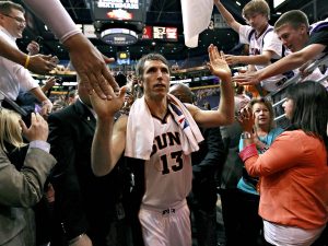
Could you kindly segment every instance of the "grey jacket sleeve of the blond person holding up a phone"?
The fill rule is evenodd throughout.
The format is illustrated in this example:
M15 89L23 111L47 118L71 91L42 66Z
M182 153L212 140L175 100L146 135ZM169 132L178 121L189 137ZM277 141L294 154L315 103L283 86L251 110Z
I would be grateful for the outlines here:
M43 150L27 151L19 172L0 149L0 204L28 208L38 202L43 188L56 160Z

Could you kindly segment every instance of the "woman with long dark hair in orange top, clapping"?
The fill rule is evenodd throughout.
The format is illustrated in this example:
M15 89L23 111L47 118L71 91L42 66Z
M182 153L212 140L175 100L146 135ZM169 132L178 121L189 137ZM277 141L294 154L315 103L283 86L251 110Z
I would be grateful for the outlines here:
M271 245L312 245L328 220L328 92L307 81L289 87L283 104L291 126L265 153L258 154L251 109L241 116L244 149L239 153L250 176L260 177L259 215Z

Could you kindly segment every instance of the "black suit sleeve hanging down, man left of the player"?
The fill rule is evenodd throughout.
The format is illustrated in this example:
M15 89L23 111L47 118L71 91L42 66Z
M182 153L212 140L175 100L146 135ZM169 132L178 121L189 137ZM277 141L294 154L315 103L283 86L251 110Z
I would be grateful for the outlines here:
M56 209L60 223L68 239L85 233L87 230L86 215L83 209L83 198L75 168L75 145L73 144L72 129L67 118L50 115L49 143L51 154L58 164L51 175L51 184L56 190Z

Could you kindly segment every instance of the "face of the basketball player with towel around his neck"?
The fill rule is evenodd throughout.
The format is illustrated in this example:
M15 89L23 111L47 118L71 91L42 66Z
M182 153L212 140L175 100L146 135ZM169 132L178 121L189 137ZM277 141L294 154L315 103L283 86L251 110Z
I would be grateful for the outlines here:
M143 67L141 86L144 95L153 99L163 98L169 89L169 69L161 60L147 60Z

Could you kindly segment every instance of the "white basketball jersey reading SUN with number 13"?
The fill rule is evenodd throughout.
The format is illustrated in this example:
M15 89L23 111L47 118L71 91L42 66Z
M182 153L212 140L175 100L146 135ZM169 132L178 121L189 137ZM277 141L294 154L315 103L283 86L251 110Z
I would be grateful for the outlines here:
M142 204L165 210L184 201L191 190L191 156L181 150L185 137L171 114L166 122L153 117L154 141L152 154L145 161L145 194Z

